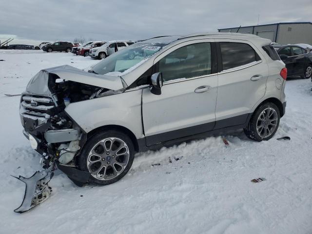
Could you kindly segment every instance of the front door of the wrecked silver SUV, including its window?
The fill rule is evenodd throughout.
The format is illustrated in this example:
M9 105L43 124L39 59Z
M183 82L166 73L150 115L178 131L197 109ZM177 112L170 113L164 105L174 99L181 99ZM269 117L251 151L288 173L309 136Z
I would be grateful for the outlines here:
M176 45L155 59L164 83L161 95L142 92L148 146L214 128L218 78L212 74L213 40L196 41Z

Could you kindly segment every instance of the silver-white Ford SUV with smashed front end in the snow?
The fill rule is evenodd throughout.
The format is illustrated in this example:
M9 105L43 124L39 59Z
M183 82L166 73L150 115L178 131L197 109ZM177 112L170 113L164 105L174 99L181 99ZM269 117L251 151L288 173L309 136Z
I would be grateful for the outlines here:
M209 132L268 140L285 114L287 69L271 40L204 33L137 42L88 72L40 71L21 96L31 146L75 183L106 185L136 152Z

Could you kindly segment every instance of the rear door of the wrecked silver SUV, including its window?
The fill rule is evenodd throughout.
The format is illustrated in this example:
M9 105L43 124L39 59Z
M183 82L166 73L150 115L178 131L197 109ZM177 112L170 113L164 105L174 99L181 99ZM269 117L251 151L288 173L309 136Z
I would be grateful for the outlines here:
M216 39L221 61L215 129L244 124L254 105L265 95L269 68L249 41Z

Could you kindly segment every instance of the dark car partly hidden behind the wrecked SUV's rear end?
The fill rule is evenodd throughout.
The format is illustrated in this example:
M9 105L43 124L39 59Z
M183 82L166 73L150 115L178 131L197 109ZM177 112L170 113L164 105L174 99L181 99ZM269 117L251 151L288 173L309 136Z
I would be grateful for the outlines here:
M273 45L273 47L286 64L288 76L311 78L312 52L298 45Z

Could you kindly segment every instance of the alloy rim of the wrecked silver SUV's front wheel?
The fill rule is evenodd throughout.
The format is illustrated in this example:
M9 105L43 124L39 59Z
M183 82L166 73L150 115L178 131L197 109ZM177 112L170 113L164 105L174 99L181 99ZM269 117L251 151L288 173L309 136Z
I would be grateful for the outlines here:
M87 168L96 179L110 180L122 173L129 162L129 148L116 137L99 141L89 152Z

